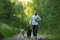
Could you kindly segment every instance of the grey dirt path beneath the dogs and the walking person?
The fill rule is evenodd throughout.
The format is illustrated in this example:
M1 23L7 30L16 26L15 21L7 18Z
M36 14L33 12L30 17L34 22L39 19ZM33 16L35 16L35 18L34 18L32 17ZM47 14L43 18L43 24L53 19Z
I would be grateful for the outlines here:
M27 34L25 33L25 34L24 34L24 37L22 37L21 34L18 34L18 35L14 35L14 37L11 37L11 38L3 38L2 40L35 40L35 39L33 39L33 34L31 34L32 36L31 36L30 39L27 38L26 35L27 35ZM43 38L43 39L44 39L45 37L42 36L42 35L38 35L37 38L38 38L38 39L39 39L39 38Z

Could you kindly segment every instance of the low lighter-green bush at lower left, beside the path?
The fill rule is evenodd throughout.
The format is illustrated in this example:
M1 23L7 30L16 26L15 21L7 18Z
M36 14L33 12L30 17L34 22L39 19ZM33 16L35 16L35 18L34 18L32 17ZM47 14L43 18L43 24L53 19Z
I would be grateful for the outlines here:
M0 34L1 34L1 37L11 37L13 36L14 34L17 34L18 32L18 29L17 28L12 28L10 26L8 26L7 24L2 24L0 25Z

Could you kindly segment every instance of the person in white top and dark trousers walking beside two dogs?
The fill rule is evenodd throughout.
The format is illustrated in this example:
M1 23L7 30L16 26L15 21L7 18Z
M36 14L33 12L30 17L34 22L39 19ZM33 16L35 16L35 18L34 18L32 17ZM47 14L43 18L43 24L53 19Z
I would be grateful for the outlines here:
M37 14L36 11L34 11L34 15L32 15L29 24L32 25L33 36L35 39L37 39L37 29L38 29L38 23L40 20L41 20L40 16Z

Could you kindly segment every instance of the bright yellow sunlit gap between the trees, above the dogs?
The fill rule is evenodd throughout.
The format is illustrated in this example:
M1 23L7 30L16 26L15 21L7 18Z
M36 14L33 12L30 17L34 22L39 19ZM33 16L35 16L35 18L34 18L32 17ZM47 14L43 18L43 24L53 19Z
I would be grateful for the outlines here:
M32 0L18 0L18 1L21 1L22 4L23 4L23 7L26 8L24 10L26 16L29 18L31 15L32 15L32 8L31 7L27 7L28 3L32 2Z

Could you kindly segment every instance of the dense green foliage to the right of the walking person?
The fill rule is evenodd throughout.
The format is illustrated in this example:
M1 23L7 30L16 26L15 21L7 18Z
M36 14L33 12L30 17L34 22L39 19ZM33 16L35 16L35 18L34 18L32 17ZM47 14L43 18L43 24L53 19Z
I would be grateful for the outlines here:
M59 0L34 0L35 7L42 20L39 25L39 32L51 34L59 37L60 35L60 1ZM58 34L58 35L56 35Z

